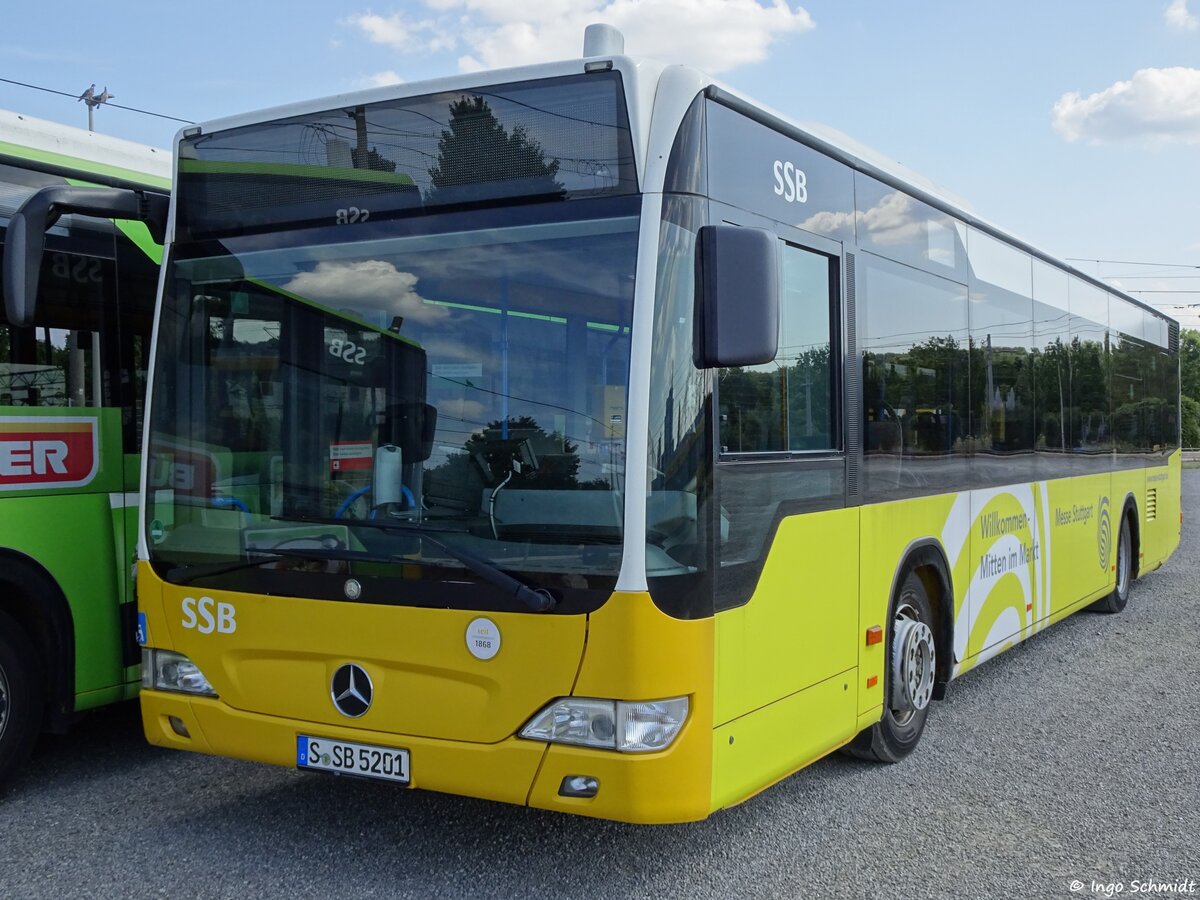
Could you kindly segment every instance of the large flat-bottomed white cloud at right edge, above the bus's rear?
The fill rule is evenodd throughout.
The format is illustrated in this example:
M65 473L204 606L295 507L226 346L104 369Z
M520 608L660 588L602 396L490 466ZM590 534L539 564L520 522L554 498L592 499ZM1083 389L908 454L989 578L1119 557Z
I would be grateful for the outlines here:
M1064 94L1054 126L1067 140L1200 143L1200 68L1141 68L1086 97Z

